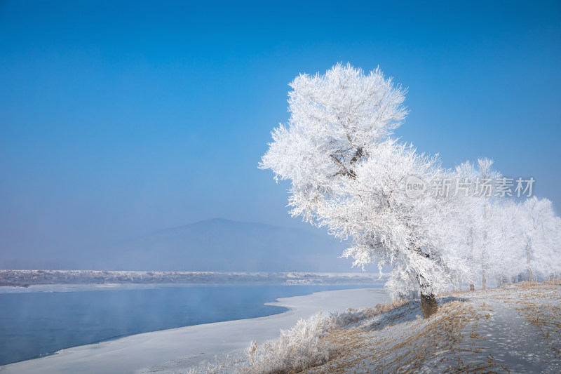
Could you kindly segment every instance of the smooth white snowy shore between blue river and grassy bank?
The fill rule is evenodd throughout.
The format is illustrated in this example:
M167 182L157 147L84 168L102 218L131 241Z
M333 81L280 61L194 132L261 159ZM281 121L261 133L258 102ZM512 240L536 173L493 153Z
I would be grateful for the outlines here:
M385 290L359 288L313 293L278 299L270 305L288 307L287 312L257 319L243 319L188 326L128 336L63 349L52 356L22 361L0 368L1 373L179 373L215 356L238 353L251 340L278 336L280 329L294 326L312 314L343 312L348 307L370 307L388 300Z

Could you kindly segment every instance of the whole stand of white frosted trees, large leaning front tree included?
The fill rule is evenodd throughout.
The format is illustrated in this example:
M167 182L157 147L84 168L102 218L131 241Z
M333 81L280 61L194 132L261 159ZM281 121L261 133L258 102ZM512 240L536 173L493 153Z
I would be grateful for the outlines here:
M492 161L448 170L438 155L394 138L407 115L405 90L378 69L336 65L290 86L290 119L273 130L260 167L290 180L292 216L349 239L344 255L355 265L391 265L393 295L420 292L430 316L435 295L450 288L560 269L561 225L550 201L496 196L487 189L501 180Z

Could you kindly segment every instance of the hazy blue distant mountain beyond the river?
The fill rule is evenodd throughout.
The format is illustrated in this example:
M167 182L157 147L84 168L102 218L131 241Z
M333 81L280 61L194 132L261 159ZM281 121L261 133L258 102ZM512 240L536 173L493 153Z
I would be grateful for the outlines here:
M215 218L69 254L67 269L355 272L327 234Z

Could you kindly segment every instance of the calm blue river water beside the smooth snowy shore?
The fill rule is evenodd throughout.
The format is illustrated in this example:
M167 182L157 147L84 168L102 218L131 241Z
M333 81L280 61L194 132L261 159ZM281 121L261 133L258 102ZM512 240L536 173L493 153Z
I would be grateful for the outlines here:
M277 298L357 287L46 286L42 292L0 293L0 365L126 335L269 316L287 310L265 305Z

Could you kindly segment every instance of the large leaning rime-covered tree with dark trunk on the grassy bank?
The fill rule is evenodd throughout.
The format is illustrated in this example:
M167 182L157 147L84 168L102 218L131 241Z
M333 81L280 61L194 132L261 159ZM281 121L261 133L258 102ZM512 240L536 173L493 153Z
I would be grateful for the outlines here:
M420 289L424 316L435 312L434 293L457 281L461 263L446 251L455 205L405 194L411 175L429 181L442 173L436 157L391 138L407 114L405 91L378 69L350 65L297 76L290 86L290 119L273 131L260 167L292 182L293 216L352 238L344 255L355 265L391 264L391 290Z

